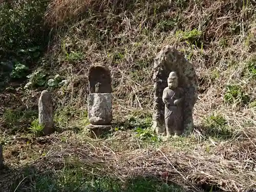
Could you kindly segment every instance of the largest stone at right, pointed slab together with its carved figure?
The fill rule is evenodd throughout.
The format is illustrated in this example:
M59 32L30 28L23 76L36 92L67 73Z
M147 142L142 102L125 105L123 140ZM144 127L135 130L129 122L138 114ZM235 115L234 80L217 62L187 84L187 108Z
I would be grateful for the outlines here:
M168 78L169 76L171 78ZM155 92L153 104L153 129L156 131L156 133L161 135L181 135L182 133L188 134L193 131L194 126L192 114L194 105L197 101L198 89L198 77L196 75L194 66L188 62L182 53L177 51L175 48L165 46L157 54L154 60L153 80ZM168 80L169 84L177 83L178 89L176 88L175 91L168 89ZM170 95L173 93L175 93L175 95L173 99L171 99L172 96ZM177 102L179 103L179 106L176 106L174 103L172 103L172 106L170 106L172 108L177 107L177 109L167 110L166 103L164 103L164 100L167 98L169 99L170 103L179 98L182 98L182 101ZM166 114L170 112L174 114L171 113L172 115L170 115L169 119L166 120L165 112ZM183 120L180 121L180 118L183 118ZM167 123L167 126L165 123Z

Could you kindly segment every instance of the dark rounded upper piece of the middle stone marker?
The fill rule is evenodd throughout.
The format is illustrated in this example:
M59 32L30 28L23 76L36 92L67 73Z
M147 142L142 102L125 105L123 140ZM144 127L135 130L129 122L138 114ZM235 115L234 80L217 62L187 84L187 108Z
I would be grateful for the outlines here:
M108 67L91 66L88 78L91 93L112 93L111 74Z

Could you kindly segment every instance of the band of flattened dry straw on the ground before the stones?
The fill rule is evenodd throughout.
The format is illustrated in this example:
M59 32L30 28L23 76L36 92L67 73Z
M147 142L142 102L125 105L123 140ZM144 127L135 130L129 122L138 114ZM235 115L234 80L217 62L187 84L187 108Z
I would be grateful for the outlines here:
M188 191L202 191L204 185L217 186L218 191L248 191L255 187L254 138L247 135L222 142L214 138L200 141L201 134L196 131L189 138L154 144L141 143L123 132L105 140L90 140L84 135L62 133L36 139L29 144L30 150L24 148L19 156L31 156L31 150L36 151L39 146L40 151L35 152L39 158L30 160L29 165L36 167L40 175L58 173L69 165L81 165L83 172L89 175L108 175L121 181L136 176L154 176L167 183L186 186ZM68 139L63 141L63 136ZM25 147L23 143L22 140L15 140L15 144L9 146L9 153L15 151L14 148L17 151L17 147ZM46 154L42 155L43 152ZM8 165L16 164L16 158L20 157L9 157ZM23 167L26 163L19 161L16 166ZM4 175L1 181L5 183L5 179L10 180ZM25 187L26 182L19 187Z

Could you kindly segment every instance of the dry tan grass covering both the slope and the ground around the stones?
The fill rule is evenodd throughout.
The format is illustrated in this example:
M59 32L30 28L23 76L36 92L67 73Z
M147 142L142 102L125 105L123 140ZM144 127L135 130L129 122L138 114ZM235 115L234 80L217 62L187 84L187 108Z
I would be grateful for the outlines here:
M200 183L218 186L220 191L255 188L256 74L248 67L256 54L255 10L253 1L51 1L46 22L57 35L45 55L48 63L39 68L68 82L52 90L56 110L75 110L57 115L65 121L58 122L62 133L40 138L46 143L30 136L13 141L5 129L7 164L15 168L32 164L44 174L58 172L70 156L89 166L84 166L86 173L108 173L121 181L154 175L187 185L188 191L202 190ZM199 33L193 34L193 29ZM111 70L118 127L130 116L151 114L153 60L167 44L183 52L199 76L196 129L191 136L152 144L135 139L131 131L92 141L83 133L63 131L84 126L80 111L87 108L87 75L94 63ZM239 93L228 92L227 85L238 87ZM14 105L34 108L39 93L23 91L15 98L20 103L3 103L3 111ZM10 93L4 94L15 101ZM27 145L28 140L32 143ZM11 153L17 146L22 146L24 159ZM47 155L38 152L41 147ZM4 181L6 175L1 177ZM8 191L9 185L5 186Z

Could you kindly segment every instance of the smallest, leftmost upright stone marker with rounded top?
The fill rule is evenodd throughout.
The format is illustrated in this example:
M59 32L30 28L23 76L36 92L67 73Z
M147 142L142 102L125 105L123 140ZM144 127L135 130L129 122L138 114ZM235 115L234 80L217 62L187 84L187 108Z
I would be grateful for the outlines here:
M53 101L52 94L42 91L38 101L39 124L44 126L44 134L49 135L53 132Z

